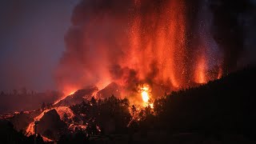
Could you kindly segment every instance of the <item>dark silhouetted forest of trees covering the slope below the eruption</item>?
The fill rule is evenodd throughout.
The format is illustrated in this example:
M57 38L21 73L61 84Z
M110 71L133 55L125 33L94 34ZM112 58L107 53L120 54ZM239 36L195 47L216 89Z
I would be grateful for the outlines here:
M126 98L118 99L114 95L104 100L93 97L88 102L70 106L80 115L74 122L86 124L86 129L78 127L74 132L67 132L58 143L88 143L94 136L111 134L139 133L146 137L149 131L242 134L254 140L256 92L252 83L256 82L255 74L255 67L240 70L203 86L173 92L156 99L154 110L149 106L138 111ZM134 113L140 120L132 121ZM64 121L68 123L69 119ZM4 136L1 141L31 141L30 137L15 131L10 123L4 124L2 133L10 133L14 138Z

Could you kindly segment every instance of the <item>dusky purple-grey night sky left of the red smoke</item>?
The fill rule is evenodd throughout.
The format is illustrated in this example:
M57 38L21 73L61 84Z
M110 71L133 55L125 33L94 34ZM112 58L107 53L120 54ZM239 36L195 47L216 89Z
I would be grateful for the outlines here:
M54 68L78 0L0 2L0 90L54 90Z

